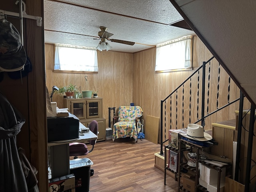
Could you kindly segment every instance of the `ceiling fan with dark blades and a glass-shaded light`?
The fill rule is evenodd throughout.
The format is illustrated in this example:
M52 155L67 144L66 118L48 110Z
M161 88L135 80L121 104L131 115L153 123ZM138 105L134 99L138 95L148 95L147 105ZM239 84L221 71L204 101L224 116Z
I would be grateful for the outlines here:
M114 34L107 32L106 27L104 26L100 26L100 31L98 32L98 37L99 38L93 38L95 40L100 40L98 46L96 47L96 49L102 51L102 50L110 50L111 46L110 44L108 44L108 42L106 42L106 40L109 40L111 42L116 42L116 43L122 43L122 44L126 44L126 45L134 45L135 42L131 42L131 41L124 41L124 40L118 40L118 39L110 39L110 37ZM79 39L76 39L79 40Z

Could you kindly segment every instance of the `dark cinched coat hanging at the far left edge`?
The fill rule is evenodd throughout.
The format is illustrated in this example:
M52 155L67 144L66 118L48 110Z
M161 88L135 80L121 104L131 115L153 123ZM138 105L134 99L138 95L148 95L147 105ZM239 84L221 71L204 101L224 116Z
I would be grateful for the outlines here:
M25 119L0 92L0 192L28 192L16 146Z

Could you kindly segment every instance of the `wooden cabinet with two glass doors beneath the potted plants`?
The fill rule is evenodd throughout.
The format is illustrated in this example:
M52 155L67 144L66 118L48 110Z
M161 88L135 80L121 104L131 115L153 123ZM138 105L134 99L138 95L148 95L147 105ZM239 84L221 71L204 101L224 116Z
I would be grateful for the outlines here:
M106 119L102 118L102 98L64 98L64 107L79 118L80 122L88 127L92 120L99 126L98 141L106 140Z

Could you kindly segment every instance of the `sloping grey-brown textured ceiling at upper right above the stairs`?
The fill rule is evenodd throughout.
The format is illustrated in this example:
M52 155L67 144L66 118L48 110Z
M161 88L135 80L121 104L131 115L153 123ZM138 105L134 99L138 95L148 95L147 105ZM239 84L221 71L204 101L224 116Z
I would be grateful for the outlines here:
M170 1L178 4L208 49L256 104L256 1Z

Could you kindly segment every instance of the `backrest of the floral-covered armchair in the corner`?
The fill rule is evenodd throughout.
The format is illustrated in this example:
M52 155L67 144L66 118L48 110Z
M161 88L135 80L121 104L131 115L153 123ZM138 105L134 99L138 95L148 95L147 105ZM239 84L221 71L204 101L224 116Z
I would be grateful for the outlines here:
M119 121L135 121L135 118L142 116L140 106L120 106L118 108Z

